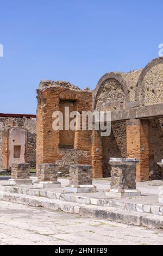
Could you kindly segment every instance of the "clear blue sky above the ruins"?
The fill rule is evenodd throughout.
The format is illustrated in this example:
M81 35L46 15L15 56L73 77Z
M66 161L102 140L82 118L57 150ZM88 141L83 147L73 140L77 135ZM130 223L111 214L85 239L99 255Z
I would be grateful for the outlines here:
M0 0L1 113L36 113L40 80L96 87L158 57L162 0Z

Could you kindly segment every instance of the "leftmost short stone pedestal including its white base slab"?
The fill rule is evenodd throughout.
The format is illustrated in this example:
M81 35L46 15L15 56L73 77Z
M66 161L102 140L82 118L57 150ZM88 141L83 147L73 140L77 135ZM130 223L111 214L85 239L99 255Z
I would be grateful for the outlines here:
M32 185L30 179L30 164L29 163L12 163L11 165L11 179L9 185Z

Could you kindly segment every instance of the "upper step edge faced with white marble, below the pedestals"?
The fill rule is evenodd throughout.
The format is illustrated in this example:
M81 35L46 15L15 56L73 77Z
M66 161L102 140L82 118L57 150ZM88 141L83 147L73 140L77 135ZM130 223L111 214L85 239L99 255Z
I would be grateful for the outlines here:
M86 205L96 205L103 207L111 207L121 210L127 210L130 212L143 212L146 214L163 216L163 205L150 205L150 204L140 204L140 203L128 203L120 200L101 199L101 198L91 198L77 196L72 193L59 193L45 190L38 190L34 188L24 188L16 186L3 186L0 185L0 191L8 193L24 194L27 196L45 197L49 199L57 199L66 202L86 204Z

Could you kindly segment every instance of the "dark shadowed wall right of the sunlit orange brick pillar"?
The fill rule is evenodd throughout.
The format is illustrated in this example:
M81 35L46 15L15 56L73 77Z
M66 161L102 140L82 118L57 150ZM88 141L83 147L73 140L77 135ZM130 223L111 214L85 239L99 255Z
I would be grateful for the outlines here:
M157 164L163 159L163 119L149 120L149 170L151 179L163 179L163 170Z

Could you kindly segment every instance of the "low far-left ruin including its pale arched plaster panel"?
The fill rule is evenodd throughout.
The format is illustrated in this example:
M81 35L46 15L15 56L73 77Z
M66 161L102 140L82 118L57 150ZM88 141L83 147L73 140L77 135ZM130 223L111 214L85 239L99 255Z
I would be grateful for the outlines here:
M36 166L36 116L0 114L0 167L11 170L12 163Z

